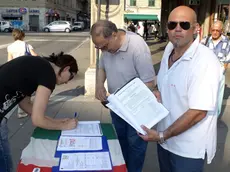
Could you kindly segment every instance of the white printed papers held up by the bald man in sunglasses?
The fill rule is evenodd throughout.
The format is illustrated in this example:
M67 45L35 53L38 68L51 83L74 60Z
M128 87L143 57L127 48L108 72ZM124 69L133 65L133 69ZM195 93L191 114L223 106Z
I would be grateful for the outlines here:
M112 108L115 107L116 111L124 116L123 119L126 118L141 134L146 134L140 128L141 125L151 128L169 113L139 78L127 83L117 93L111 94L108 100ZM121 116L120 114L118 115Z

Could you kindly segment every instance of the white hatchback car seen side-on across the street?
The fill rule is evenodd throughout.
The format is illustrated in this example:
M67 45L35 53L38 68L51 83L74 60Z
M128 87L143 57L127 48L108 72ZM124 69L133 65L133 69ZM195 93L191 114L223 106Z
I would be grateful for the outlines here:
M69 21L54 21L46 25L43 30L45 32L71 32L72 25Z

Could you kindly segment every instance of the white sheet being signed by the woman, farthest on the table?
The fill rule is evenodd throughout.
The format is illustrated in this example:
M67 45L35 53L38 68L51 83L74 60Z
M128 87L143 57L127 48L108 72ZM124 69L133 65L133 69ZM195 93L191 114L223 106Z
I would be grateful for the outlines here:
M61 135L102 136L100 121L79 121L77 128L72 130L63 130Z

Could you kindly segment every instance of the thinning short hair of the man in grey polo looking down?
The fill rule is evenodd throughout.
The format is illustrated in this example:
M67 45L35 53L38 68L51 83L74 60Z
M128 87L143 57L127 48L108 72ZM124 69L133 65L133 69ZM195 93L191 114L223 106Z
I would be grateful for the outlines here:
M113 32L117 32L117 26L108 20L99 20L93 24L90 30L92 36L103 36L104 38L110 37Z

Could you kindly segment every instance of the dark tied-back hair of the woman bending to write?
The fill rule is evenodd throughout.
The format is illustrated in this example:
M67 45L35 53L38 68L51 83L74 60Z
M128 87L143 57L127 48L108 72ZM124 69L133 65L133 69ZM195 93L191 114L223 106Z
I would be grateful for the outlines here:
M78 72L78 65L75 58L69 54L64 54L64 52L60 52L59 54L52 53L49 57L44 57L49 62L55 64L60 67L59 74L64 70L65 67L70 66L69 71L73 73Z

